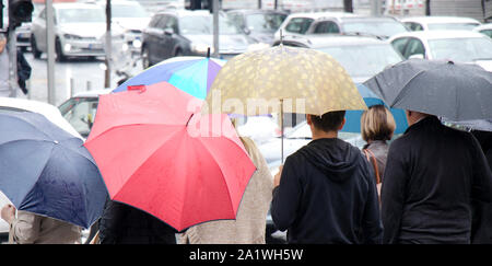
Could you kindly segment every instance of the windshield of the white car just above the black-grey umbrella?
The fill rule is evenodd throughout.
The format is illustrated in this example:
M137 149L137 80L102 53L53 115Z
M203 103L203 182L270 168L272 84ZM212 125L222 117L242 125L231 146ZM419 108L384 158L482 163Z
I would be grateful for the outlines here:
M492 41L488 37L430 39L433 59L470 62L492 59Z

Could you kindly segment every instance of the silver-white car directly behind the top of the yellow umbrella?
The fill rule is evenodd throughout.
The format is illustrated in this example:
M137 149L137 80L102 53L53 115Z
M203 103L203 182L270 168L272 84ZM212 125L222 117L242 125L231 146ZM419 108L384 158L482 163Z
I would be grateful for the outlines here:
M362 83L387 66L403 60L387 41L376 37L311 34L303 38L286 36L282 43L329 54L355 83Z

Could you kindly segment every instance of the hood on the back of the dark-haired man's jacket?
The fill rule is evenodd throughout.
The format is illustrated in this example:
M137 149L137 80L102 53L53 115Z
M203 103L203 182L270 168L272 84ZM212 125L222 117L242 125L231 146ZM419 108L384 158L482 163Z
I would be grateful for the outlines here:
M361 155L358 148L338 138L313 140L298 152L335 182L353 176Z

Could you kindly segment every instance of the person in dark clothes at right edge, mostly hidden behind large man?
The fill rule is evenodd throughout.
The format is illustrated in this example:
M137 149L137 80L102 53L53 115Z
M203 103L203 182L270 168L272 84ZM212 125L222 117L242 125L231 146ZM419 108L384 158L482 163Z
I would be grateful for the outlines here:
M492 170L492 132L472 130ZM492 204L476 201L471 225L471 244L492 244Z

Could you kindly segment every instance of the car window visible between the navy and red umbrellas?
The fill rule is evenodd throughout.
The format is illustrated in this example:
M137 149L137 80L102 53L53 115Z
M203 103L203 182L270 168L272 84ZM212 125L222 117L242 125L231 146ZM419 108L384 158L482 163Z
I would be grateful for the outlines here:
M60 106L60 113L72 127L84 138L91 131L97 111L97 99L75 97Z

